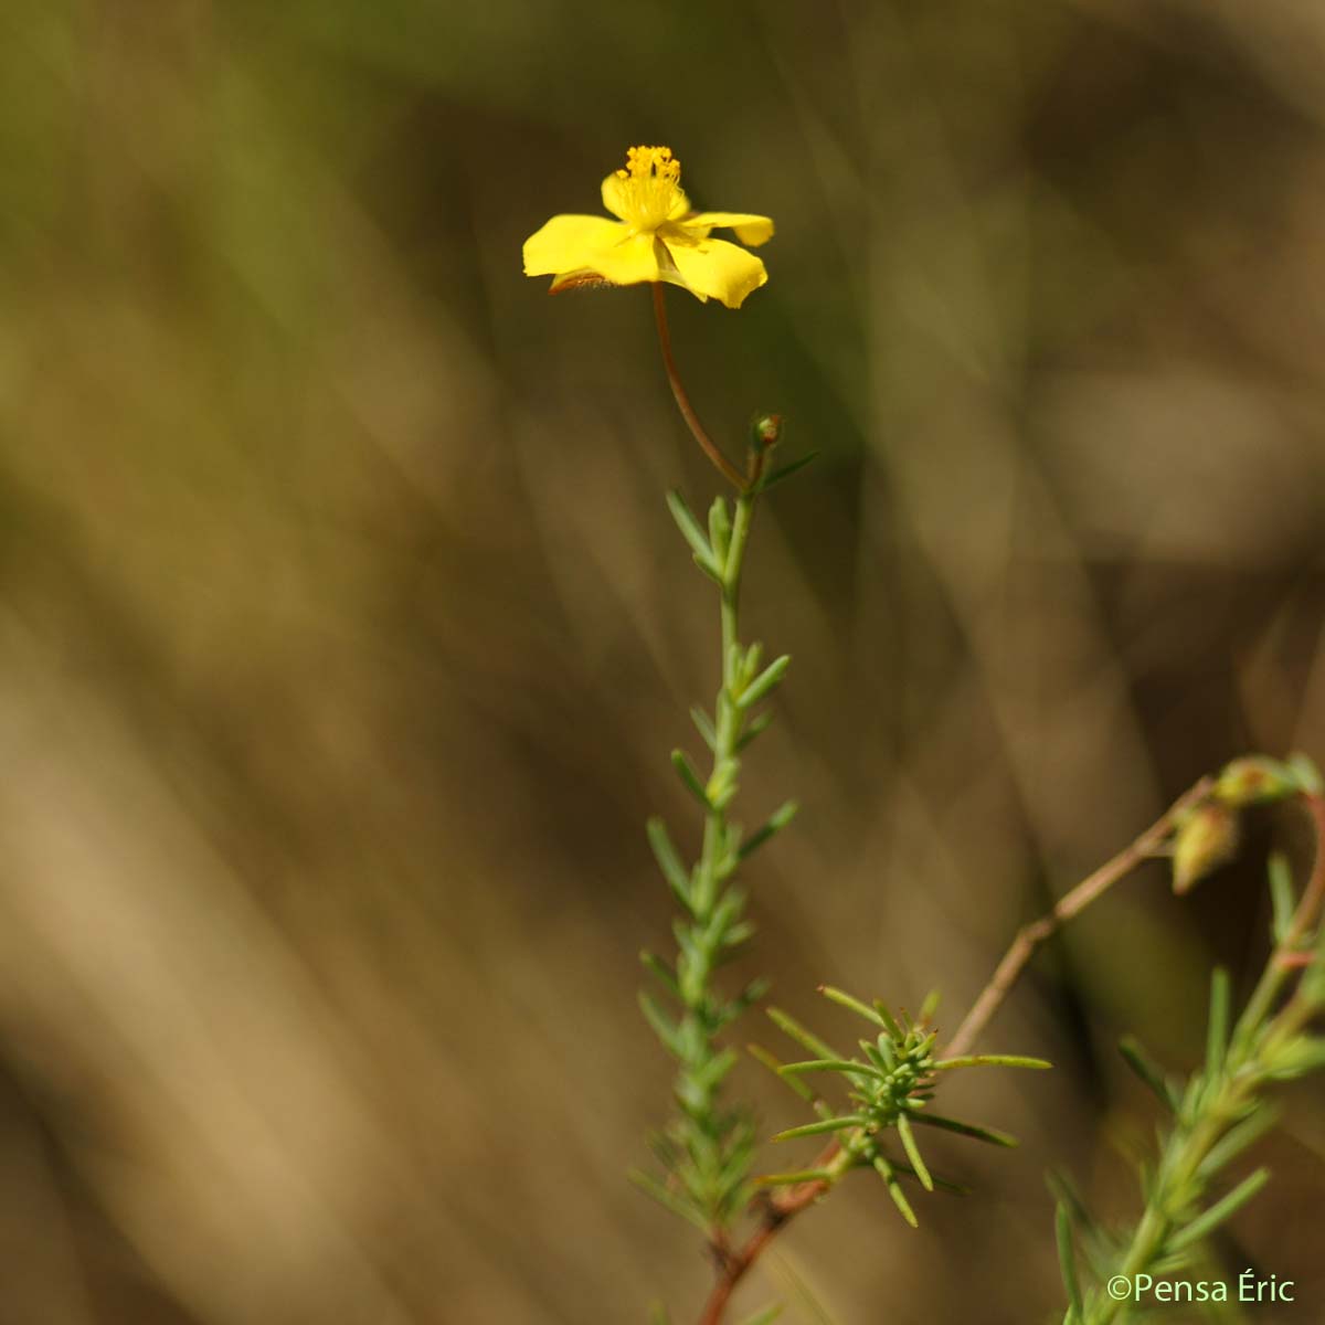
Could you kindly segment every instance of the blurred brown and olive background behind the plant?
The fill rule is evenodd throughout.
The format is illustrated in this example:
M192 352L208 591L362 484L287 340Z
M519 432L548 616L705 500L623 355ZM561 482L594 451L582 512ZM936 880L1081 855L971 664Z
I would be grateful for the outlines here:
M643 823L694 844L666 754L717 674L662 493L717 477L645 292L519 257L631 143L775 217L676 348L730 449L780 409L820 452L747 578L795 659L742 792L804 807L751 872L778 1002L845 1035L820 980L938 984L951 1026L1199 774L1325 758L1322 122L1313 0L8 0L0 1321L697 1314L624 1171L668 1110ZM1040 957L986 1043L1060 1071L953 1090L1022 1150L931 1146L975 1195L913 1234L860 1178L741 1305L1056 1318L1044 1174L1134 1214L1113 1044L1191 1067L1271 840L1308 853L1255 824ZM1287 1322L1325 1116L1284 1098L1222 1251Z

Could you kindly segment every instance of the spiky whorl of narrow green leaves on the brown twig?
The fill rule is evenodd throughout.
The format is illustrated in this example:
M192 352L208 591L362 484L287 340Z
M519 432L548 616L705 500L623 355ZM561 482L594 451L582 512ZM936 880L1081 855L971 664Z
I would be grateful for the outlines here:
M901 1216L914 1228L918 1220L900 1178L912 1178L926 1191L935 1187L959 1190L930 1173L916 1137L917 1126L939 1128L999 1146L1016 1145L1006 1133L930 1112L938 1075L974 1067L1047 1068L1049 1064L1043 1059L1003 1053L937 1057L934 1045L938 1032L929 1026L935 1002L933 996L926 1000L920 1019L913 1022L905 1012L893 1015L882 1003L863 1003L839 988L825 986L820 992L869 1023L873 1037L859 1041L860 1057L839 1053L779 1008L768 1008L774 1024L814 1056L800 1063L779 1063L765 1049L751 1047L751 1052L818 1114L816 1122L788 1128L772 1140L835 1137L841 1149L824 1167L768 1174L759 1181L766 1186L800 1182L832 1185L851 1169L873 1169L882 1178ZM820 1073L837 1076L847 1088L849 1102L845 1112L835 1110L804 1084L804 1077ZM900 1155L889 1149L893 1137L901 1149Z

